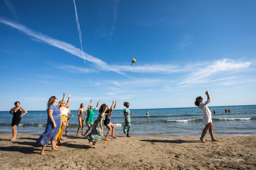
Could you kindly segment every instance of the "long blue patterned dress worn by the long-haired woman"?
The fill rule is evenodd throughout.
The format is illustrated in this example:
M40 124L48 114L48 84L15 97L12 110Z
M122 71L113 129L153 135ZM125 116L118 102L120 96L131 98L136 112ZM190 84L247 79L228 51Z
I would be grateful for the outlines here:
M47 119L47 124L45 128L45 132L37 139L36 144L37 145L47 145L50 140L55 141L56 135L60 129L60 110L59 107L55 107L53 104L50 105L46 110L48 111L49 109L53 110L53 119L56 123L56 128L53 128L53 123L49 118L49 113L48 113L48 119Z

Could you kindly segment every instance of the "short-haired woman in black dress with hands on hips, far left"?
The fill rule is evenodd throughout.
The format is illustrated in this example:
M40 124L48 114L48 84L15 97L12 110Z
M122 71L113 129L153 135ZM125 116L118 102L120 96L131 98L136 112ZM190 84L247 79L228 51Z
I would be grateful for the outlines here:
M16 140L17 135L17 126L19 125L21 121L21 117L27 114L27 110L25 110L23 107L20 107L20 102L15 102L14 106L9 113L13 115L12 117L12 139L10 141ZM13 112L12 112L13 111ZM25 113L21 115L22 111Z

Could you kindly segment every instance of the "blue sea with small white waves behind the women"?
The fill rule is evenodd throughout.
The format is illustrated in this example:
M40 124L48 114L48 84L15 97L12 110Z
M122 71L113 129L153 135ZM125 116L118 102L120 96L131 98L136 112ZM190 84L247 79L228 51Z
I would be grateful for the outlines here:
M231 113L225 113L225 109ZM72 109L72 108L71 108ZM215 136L256 135L256 106L217 106L209 107L212 110L212 122ZM146 111L150 116L146 116ZM213 113L216 111L216 114ZM122 111L122 115L120 112ZM134 136L200 136L204 125L203 113L198 107L169 108L169 109L130 109L130 135ZM94 120L98 116L95 112ZM40 115L44 114L44 115ZM78 128L77 110L72 110L69 122L69 134L76 134ZM115 134L125 135L123 126L125 117L123 110L114 110L111 123L115 124ZM0 133L12 133L12 115L7 111L0 111ZM17 133L43 133L47 122L46 111L28 111L21 119ZM86 131L87 126L85 124ZM64 128L65 131L65 128ZM106 135L107 128L103 126ZM80 129L81 134L81 129ZM206 136L210 136L207 132Z

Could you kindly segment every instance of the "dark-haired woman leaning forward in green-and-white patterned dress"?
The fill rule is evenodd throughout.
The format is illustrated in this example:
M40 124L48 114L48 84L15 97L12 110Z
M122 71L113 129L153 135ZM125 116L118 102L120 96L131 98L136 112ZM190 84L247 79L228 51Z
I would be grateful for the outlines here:
M97 148L95 146L97 141L101 141L103 138L103 126L102 121L105 120L105 112L107 111L107 105L104 103L99 108L99 115L97 117L97 120L93 123L92 131L87 135L87 139L89 140L89 143L91 144L92 148Z

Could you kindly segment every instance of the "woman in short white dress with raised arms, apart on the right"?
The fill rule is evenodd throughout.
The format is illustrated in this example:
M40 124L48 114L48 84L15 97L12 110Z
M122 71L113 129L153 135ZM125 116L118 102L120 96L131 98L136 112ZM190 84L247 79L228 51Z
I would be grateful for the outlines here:
M205 94L207 95L207 101L203 102L203 98L201 96L198 96L195 101L195 105L199 107L203 111L203 124L205 125L205 128L203 129L202 136L200 137L200 140L203 141L203 143L206 143L204 140L204 136L206 135L206 132L209 129L209 133L211 135L212 141L218 141L214 138L213 130L212 130L212 115L211 111L209 110L207 104L211 102L211 97L209 92L206 90Z

